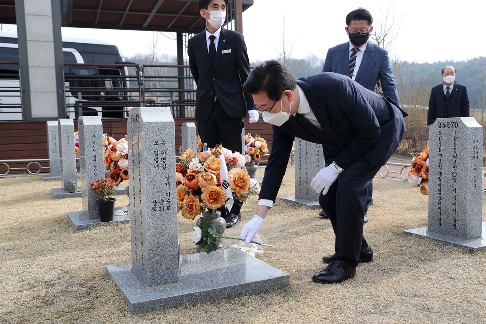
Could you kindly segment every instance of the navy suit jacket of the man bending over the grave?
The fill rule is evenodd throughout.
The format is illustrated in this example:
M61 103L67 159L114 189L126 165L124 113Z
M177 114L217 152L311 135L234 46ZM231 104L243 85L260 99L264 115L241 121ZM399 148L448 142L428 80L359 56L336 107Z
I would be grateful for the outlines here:
M301 127L294 116L280 127L273 126L272 151L260 199L275 201L294 137L322 144L326 164L334 160L346 169L359 159L375 166L384 165L405 133L403 117L407 114L388 98L365 89L348 76L321 73L300 78L297 84L322 130L315 126Z

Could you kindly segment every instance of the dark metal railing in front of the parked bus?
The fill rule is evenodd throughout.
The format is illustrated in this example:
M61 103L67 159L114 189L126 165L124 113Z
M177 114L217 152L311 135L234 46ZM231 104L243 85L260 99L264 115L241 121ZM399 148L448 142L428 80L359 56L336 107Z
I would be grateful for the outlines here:
M0 73L0 120L22 120L18 62L0 62L0 70L8 71ZM64 71L67 118L126 118L138 106L170 107L174 118L195 117L188 65L65 63Z

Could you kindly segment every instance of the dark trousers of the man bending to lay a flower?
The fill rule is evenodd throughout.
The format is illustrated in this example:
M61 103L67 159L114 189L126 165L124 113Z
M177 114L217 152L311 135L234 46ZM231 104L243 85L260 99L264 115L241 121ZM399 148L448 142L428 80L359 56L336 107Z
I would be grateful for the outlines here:
M319 196L320 206L331 220L336 236L333 258L344 260L352 267L358 265L361 249L368 246L363 235L368 207L365 205L373 177L379 169L360 159L338 175L326 195L321 193Z

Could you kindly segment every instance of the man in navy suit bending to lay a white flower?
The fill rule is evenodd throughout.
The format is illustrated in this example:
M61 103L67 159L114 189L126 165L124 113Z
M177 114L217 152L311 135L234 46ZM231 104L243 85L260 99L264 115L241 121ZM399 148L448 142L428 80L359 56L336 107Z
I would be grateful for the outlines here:
M331 220L335 253L323 258L329 264L312 280L339 283L354 277L359 262L373 259L363 236L368 188L403 138L407 114L348 76L321 73L295 80L277 61L253 69L243 88L273 125L273 138L256 215L241 238L247 244L258 240L255 234L275 202L294 138L322 144L326 162L310 186L320 193L320 206Z

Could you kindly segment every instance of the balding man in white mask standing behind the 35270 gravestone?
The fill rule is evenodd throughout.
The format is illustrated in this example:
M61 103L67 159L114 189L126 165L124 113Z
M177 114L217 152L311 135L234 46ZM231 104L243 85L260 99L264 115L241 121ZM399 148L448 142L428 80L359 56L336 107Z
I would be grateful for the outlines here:
M456 83L456 69L446 66L442 69L443 83L430 92L427 125L437 118L469 117L469 98L464 85Z

